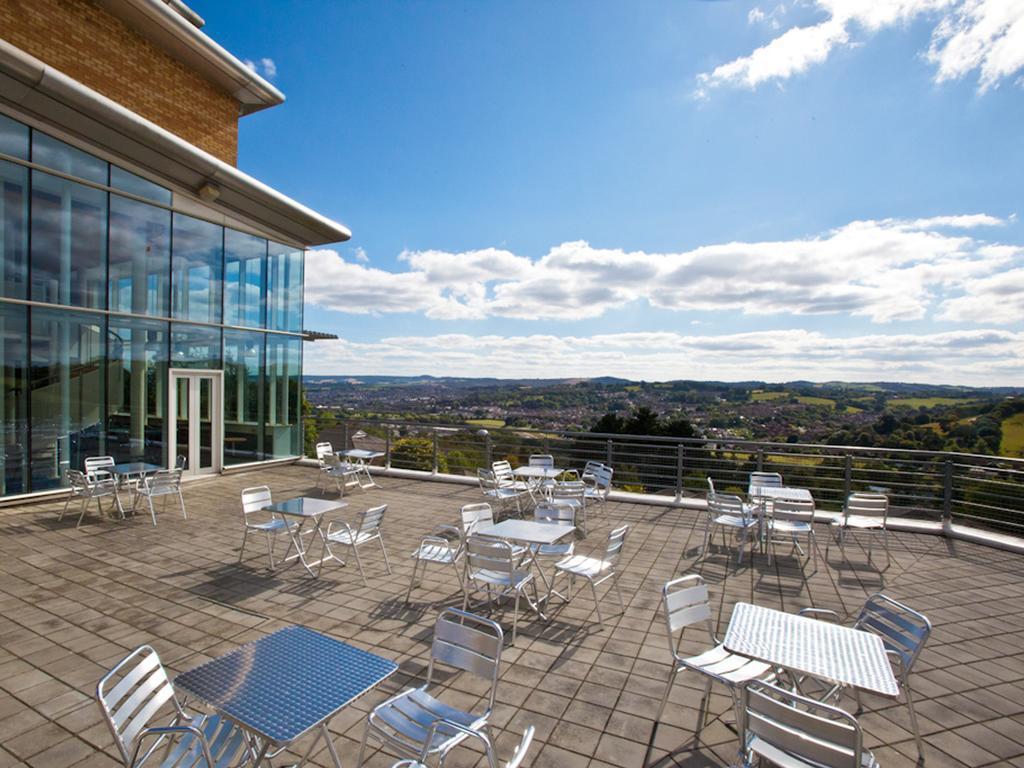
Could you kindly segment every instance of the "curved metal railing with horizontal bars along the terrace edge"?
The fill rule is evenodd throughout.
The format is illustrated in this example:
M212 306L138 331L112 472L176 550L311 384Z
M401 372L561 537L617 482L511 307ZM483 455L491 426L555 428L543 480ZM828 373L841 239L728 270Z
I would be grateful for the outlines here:
M751 472L779 472L806 487L822 510L839 511L847 495L881 490L895 516L978 525L1024 536L1024 460L950 452L780 443L725 438L562 432L471 424L312 418L307 449L318 440L374 447L388 467L475 476L507 459L525 464L551 454L556 466L589 460L614 468L614 487L674 499L702 497L707 478L745 493ZM313 435L315 434L315 439Z

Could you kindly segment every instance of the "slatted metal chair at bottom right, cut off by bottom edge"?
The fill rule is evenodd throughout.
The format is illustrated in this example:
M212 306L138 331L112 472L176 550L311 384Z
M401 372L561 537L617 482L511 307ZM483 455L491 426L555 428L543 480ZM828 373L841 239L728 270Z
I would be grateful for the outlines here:
M763 683L743 688L744 768L878 768L857 719L799 693Z

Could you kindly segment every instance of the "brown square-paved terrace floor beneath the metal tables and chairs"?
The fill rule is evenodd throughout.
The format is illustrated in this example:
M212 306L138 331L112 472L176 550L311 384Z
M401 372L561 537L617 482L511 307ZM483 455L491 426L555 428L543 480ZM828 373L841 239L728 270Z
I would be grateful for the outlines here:
M332 723L345 765L354 765L366 713L424 671L433 620L442 605L461 605L451 570L430 568L403 602L419 539L459 508L479 501L475 487L380 477L382 487L354 492L344 517L387 503L384 523L393 572L367 551L371 586L354 563L328 564L324 578L298 567L269 573L262 542L242 541L239 495L268 484L275 499L316 495L316 470L260 468L185 485L189 517L169 507L153 527L147 516L127 522L93 514L76 529L57 522L62 501L0 510L0 768L114 766L114 744L92 696L99 677L131 648L153 644L174 672L228 651L289 624L303 624L400 665L387 680ZM93 508L94 510L94 508ZM978 544L909 532L890 535L892 564L884 573L866 564L856 545L852 563L833 547L805 581L800 562L784 554L769 567L758 555L735 565L735 550L697 562L703 531L694 511L609 503L592 516L584 548L600 546L609 527L632 526L623 558L624 615L607 602L598 630L584 593L554 610L550 624L528 614L517 644L503 659L494 719L499 755L507 757L526 725L538 740L525 765L620 768L726 765L735 736L722 719L693 742L699 681L680 676L650 743L652 717L669 670L660 588L696 570L712 588L719 635L732 605L751 601L796 611L805 606L855 614L880 589L924 611L934 630L911 677L927 743L927 765L1024 765L1024 583L1021 557ZM827 531L819 526L824 548ZM251 557L249 557L251 555ZM876 562L885 556L876 549ZM807 566L810 571L810 565ZM507 627L511 614L502 617ZM462 684L454 678L456 689ZM477 691L457 694L471 703ZM887 768L916 761L904 706L865 696L861 717L867 744ZM712 712L729 710L717 691ZM731 715L725 716L731 720ZM315 759L327 765L326 752ZM475 765L480 754L460 748L449 765ZM397 758L374 754L368 765ZM482 764L482 763L481 763Z

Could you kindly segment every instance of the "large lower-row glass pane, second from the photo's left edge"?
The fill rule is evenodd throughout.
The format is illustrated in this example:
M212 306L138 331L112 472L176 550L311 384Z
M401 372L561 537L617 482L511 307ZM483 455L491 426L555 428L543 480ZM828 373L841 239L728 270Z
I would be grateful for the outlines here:
M32 489L56 487L103 445L103 321L32 310Z

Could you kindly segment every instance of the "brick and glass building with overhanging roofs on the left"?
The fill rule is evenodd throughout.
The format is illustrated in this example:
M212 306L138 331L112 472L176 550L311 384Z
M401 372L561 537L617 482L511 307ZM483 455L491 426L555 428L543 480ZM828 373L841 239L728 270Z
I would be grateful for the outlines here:
M283 96L201 24L0 0L0 497L302 454L304 249L348 231L234 168Z

